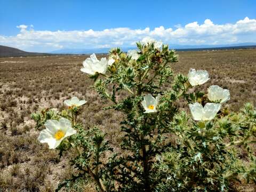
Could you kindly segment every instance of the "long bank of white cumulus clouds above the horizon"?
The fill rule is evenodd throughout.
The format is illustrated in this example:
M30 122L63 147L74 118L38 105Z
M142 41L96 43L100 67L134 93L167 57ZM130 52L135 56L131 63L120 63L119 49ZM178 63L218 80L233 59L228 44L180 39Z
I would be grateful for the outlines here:
M162 40L165 44L218 45L256 42L256 19L244 18L236 23L214 24L210 19L204 23L187 23L174 28L156 27L153 30L113 28L96 30L50 31L36 30L33 25L17 26L17 36L0 35L0 44L18 47L26 51L49 52L63 48L129 47L144 37Z

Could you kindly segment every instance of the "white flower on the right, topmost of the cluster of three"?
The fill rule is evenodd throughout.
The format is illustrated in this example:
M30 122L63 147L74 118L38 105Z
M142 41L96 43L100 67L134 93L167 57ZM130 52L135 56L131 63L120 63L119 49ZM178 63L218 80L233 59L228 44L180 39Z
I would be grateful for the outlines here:
M202 85L209 80L209 74L206 70L190 69L188 72L188 81L192 86Z

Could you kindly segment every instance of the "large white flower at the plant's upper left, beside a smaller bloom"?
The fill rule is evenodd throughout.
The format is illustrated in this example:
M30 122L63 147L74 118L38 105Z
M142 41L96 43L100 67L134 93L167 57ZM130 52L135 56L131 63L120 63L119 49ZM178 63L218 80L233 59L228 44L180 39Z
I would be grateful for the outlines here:
M114 59L107 60L106 58L101 58L98 60L93 53L90 55L90 58L84 60L84 68L81 71L90 75L94 75L95 73L105 74L108 65L112 65L114 62Z

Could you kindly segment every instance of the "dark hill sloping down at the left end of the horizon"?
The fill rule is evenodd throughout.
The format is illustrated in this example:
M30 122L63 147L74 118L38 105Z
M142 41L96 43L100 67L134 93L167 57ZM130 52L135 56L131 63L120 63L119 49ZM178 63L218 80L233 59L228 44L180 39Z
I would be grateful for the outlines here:
M26 52L13 47L0 45L0 57L26 57L26 56L39 56L39 55L50 55L50 54Z

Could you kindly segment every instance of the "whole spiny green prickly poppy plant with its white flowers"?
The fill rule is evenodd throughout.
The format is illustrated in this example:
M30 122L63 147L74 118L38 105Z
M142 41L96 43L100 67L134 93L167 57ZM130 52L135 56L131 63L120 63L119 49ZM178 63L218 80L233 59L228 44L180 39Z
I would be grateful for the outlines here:
M78 98L65 101L68 108L61 113L50 109L32 115L37 129L46 127L40 142L60 155L76 151L70 163L77 174L57 190L81 179L93 180L98 191L132 192L232 191L235 182L256 183L255 108L247 103L233 113L225 106L229 91L217 85L195 92L195 86L211 81L209 74L190 69L187 76L174 75L178 56L168 45L145 38L137 47L127 54L112 49L108 60L93 54L81 66L99 96L113 103L102 110L125 115L119 126L123 152L115 153L97 127L77 122L86 105ZM117 97L121 92L125 97Z

